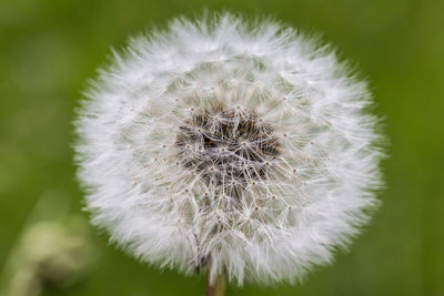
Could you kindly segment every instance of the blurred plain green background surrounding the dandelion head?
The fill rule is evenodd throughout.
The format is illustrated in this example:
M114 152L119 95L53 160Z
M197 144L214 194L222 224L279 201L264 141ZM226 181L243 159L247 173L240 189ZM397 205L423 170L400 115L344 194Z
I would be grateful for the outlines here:
M230 287L228 295L444 295L444 1L434 0L1 0L0 267L39 201L53 201L39 215L81 213L71 121L110 47L204 8L322 32L371 81L391 139L383 206L351 252L304 285ZM139 264L105 234L90 233L93 271L42 295L203 295L203 277Z

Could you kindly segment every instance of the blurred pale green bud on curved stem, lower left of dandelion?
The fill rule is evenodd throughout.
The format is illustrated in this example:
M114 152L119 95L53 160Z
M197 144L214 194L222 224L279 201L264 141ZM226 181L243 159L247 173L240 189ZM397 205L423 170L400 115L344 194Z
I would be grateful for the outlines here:
M68 289L91 271L94 248L87 222L75 215L30 223L13 247L2 277L2 295L38 296Z

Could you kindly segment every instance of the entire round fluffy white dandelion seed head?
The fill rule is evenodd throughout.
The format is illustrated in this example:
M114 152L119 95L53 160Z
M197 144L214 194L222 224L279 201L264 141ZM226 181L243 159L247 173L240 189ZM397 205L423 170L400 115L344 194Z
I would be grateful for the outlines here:
M135 38L75 121L95 225L211 280L300 280L377 204L371 94L329 47L229 13Z

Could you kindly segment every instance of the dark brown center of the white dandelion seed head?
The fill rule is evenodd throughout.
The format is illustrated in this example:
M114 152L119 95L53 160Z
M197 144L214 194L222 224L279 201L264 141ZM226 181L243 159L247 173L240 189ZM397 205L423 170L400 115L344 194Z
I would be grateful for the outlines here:
M269 177L281 154L274 129L240 108L193 112L179 127L178 157L186 169L215 184L255 184Z

